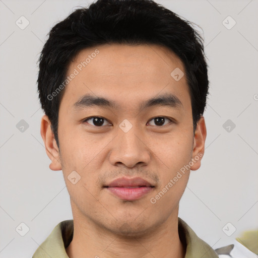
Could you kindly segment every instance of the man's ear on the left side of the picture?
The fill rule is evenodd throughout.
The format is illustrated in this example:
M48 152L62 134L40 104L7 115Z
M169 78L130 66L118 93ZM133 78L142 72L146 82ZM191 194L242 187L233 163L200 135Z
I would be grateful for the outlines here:
M51 130L51 122L46 115L43 115L41 118L40 134L45 143L46 154L51 159L49 168L54 171L61 170L59 149Z

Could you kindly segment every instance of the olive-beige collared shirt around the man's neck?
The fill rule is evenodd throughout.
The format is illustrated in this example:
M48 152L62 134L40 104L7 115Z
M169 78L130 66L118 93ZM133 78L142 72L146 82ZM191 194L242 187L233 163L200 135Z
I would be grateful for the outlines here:
M60 222L46 240L37 248L32 258L69 258L66 247L73 239L74 221ZM185 258L218 258L217 253L180 218L178 218L180 240L186 245Z

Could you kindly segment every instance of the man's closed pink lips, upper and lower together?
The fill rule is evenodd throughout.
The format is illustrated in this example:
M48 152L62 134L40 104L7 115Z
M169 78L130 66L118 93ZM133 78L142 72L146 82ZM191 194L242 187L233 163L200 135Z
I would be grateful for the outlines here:
M141 177L120 177L113 180L105 188L122 200L134 201L147 195L155 186Z

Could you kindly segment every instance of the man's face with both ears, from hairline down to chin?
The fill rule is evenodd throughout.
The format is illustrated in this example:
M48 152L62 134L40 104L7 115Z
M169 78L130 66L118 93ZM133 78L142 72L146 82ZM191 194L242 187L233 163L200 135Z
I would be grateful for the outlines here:
M41 135L50 168L63 171L74 219L137 235L177 218L206 138L203 117L193 135L182 73L180 59L158 45L87 48L70 63L67 75L76 75L60 103L59 149L47 117Z

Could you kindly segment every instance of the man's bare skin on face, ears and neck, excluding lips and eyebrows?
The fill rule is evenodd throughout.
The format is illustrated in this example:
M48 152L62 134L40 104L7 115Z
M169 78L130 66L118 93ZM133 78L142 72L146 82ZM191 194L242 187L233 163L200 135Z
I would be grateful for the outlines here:
M72 258L184 257L177 229L179 200L202 157L155 204L150 202L180 168L204 154L204 117L193 136L186 77L175 81L170 75L175 68L184 72L183 63L163 46L111 44L80 51L67 74L96 49L98 55L66 86L58 114L59 149L48 117L41 120L49 168L62 170L71 199L74 238L66 251ZM86 93L116 101L119 108L73 108ZM142 101L167 93L183 107L139 112ZM91 116L105 118L102 127L93 119L85 121ZM165 119L159 125L155 117L175 122ZM124 119L132 124L127 133L119 127ZM76 184L68 179L72 171L81 176ZM122 176L140 176L155 187L139 200L124 201L103 188Z

